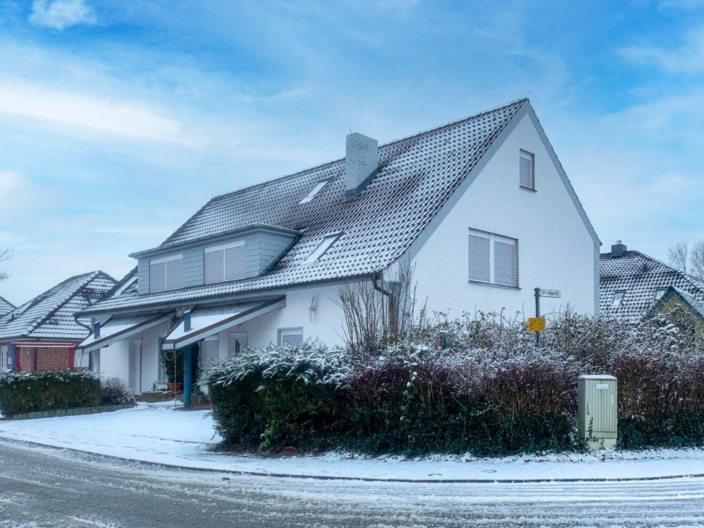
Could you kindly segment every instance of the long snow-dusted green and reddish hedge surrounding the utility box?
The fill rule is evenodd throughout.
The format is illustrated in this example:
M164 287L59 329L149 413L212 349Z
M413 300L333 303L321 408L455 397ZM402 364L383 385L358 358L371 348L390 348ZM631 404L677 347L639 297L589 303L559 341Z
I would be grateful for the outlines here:
M567 311L539 347L522 320L479 314L375 353L246 351L206 381L230 448L498 455L579 449L583 373L619 378L622 446L703 443L704 353L667 320L636 327Z

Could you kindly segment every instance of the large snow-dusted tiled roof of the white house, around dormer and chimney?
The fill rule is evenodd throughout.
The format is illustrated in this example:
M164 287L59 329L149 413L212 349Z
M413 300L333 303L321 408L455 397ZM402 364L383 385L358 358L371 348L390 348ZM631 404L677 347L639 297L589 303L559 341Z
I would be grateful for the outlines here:
M344 158L295 174L216 196L166 239L161 248L232 232L250 225L271 225L301 232L296 244L263 275L234 282L138 295L129 289L91 307L90 313L147 310L155 306L254 291L360 277L385 270L408 251L502 132L534 113L527 99L472 115L379 146L376 175L356 199L345 197ZM498 142L496 142L498 144ZM491 154L489 154L490 156ZM559 162L558 162L559 163ZM307 203L301 200L320 182L325 187ZM566 182L571 191L569 182ZM580 214L582 206L576 202ZM586 215L584 217L586 219ZM587 229L593 233L589 220ZM341 233L313 262L310 253L326 234ZM596 237L596 234L593 234Z

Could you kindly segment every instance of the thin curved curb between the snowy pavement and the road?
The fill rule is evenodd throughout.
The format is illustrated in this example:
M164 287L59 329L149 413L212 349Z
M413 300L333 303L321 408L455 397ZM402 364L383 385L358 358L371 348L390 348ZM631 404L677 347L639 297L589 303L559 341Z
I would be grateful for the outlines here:
M595 478L557 478L557 479L382 479L379 477L345 477L335 475L311 475L311 474L296 474L296 473L265 473L257 471L237 471L237 470L218 470L209 467L189 467L178 464L167 464L163 462L149 462L147 460L136 460L115 455L103 455L101 453L93 453L92 451L84 451L82 449L70 447L58 447L51 444L42 444L29 440L17 440L0 436L0 440L19 442L21 444L30 444L32 446L48 447L51 449L70 451L72 453L82 453L94 455L102 458L110 458L112 460L122 460L124 462L137 463L144 466L163 467L170 470L194 471L199 473L217 473L217 474L232 474L243 477L271 477L277 479L315 479L315 480L340 480L340 481L358 481L358 482L394 482L406 484L539 484L543 482L652 482L658 480L674 480L674 479L696 479L704 478L704 473L689 473L678 475L665 475L660 477L615 477L612 479L606 477Z

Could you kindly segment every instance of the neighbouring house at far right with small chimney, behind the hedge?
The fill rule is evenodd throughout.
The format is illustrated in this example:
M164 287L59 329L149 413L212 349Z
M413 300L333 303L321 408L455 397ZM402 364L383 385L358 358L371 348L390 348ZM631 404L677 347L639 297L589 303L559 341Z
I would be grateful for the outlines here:
M696 318L704 314L704 282L691 275L629 251L620 240L600 260L601 313L639 322L680 303Z

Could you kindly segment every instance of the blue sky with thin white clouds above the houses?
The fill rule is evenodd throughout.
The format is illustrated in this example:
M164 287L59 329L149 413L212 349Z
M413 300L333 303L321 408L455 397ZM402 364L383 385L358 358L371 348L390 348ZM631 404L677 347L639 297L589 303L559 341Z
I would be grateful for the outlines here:
M120 278L350 128L386 142L526 94L605 248L704 237L703 1L2 1L0 295Z

